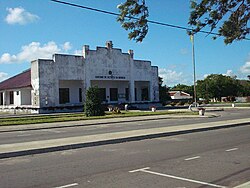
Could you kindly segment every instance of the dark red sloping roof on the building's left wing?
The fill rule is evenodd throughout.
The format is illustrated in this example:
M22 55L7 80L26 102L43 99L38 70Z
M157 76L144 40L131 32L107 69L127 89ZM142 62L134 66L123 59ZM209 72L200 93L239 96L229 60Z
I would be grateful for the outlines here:
M31 86L31 70L24 71L3 82L0 82L0 90L17 89Z

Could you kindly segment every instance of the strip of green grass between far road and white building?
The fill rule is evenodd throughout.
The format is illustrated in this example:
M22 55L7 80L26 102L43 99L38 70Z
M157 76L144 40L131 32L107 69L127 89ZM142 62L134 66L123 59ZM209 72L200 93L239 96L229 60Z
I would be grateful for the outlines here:
M116 117L135 117L135 116L153 116L153 115L166 115L166 114L182 114L182 115L197 115L197 112L170 112L170 111L158 111L158 112L125 112L120 114L113 114L106 112L105 116L86 117L84 113L76 114L60 114L60 115L42 115L42 116L29 116L29 117L6 117L0 118L0 126L6 125L25 125L36 123L53 123L53 122L65 122L65 121L79 121L79 120L91 120L91 119L106 119Z

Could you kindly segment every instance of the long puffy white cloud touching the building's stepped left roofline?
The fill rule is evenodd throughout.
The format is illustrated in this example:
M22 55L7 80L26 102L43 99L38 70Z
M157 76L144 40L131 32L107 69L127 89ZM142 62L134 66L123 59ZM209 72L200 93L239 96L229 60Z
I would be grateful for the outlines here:
M39 42L31 42L21 48L21 52L16 55L4 53L0 57L1 63L21 63L29 62L38 58L52 58L52 54L66 52L71 47L69 42L65 42L61 48L54 42L50 41L47 44L41 45Z

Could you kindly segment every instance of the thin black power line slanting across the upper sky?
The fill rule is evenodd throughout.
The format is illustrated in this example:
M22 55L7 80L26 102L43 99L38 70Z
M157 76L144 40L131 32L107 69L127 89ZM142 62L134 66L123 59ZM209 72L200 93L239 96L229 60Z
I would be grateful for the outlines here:
M100 12L100 13L103 13L103 14L109 14L109 15L113 15L113 16L119 16L120 15L120 14L115 13L115 12L110 12L110 11L101 10L101 9L97 9L97 8L87 7L87 6L83 6L83 5L77 5L77 4L68 3L68 2L65 2L65 1L59 1L59 0L50 0L50 1L55 2L55 3L64 4L64 5L68 5L68 6L72 6L72 7L82 8L82 9L91 10L91 11L95 11L95 12ZM138 18L136 18L136 17L126 16L126 18L138 20ZM178 26L178 25L173 25L173 24L168 24L168 23L163 23L163 22L158 22L158 21L153 21L153 20L147 20L147 22L151 23L151 24L156 24L156 25L161 25L161 26L166 26L166 27L172 27L172 28L175 28L175 29L193 31L193 29L188 28L188 27L184 27L184 26ZM198 32L199 33L205 33L205 34L212 34L212 35L221 36L219 33L214 33L214 32L210 32L210 31L200 30ZM250 40L248 38L245 38L245 39Z

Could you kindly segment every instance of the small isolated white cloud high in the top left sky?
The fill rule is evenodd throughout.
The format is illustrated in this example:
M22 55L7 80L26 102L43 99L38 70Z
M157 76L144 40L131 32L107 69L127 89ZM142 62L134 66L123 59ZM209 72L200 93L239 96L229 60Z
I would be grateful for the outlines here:
M28 23L35 22L39 19L37 15L27 12L22 7L7 8L7 11L8 11L8 15L6 16L5 21L8 24L25 25Z

